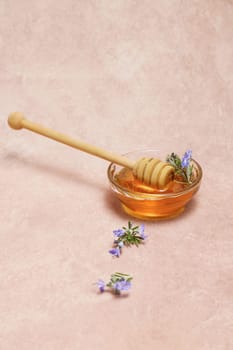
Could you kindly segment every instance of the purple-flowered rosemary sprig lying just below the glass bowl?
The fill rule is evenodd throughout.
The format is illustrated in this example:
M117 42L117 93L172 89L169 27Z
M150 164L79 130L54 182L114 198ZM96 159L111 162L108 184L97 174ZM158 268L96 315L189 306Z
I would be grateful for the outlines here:
M113 248L109 250L109 253L114 257L118 257L121 255L121 249L123 246L131 246L143 243L147 238L145 235L145 225L142 224L140 226L133 226L132 223L128 222L128 227L122 227L122 229L117 229L113 231L114 234L114 242Z

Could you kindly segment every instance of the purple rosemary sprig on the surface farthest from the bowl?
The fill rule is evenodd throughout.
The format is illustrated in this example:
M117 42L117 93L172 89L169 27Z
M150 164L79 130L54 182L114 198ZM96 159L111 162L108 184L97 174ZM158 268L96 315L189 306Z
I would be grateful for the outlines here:
M103 293L106 290L106 287L108 287L114 294L121 294L122 291L128 291L131 288L132 279L133 277L128 274L115 272L111 275L108 283L99 279L96 284L101 293Z

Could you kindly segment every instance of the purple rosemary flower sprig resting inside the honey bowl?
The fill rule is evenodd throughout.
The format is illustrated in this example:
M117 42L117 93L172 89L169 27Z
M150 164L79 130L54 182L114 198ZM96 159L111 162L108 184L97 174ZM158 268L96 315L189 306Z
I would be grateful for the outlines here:
M183 155L182 159L175 154L171 153L167 156L166 162L171 164L175 168L175 176L178 180L191 183L193 166L190 164L192 159L192 151L188 150Z

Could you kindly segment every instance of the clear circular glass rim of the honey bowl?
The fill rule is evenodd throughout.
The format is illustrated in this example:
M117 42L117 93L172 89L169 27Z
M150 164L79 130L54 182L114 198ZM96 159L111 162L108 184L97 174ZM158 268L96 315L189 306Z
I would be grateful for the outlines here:
M150 152L152 152L152 151L154 152L154 151L158 151L158 149L135 150L135 151L132 151L132 152L127 152L125 154L122 154L122 156L126 157L126 156L129 156L129 155L133 155L134 153L137 153L137 152L149 152L149 151ZM114 181L114 178L112 177L112 174L111 174L113 167L120 166L120 165L118 165L118 164L116 164L114 162L109 164L108 169L107 169L107 175L108 175L108 179L109 179L110 183L114 187L119 189L121 192L124 192L124 194L127 195L128 197L135 198L137 196L137 197L139 197L138 199L147 199L147 200L164 199L164 198L176 198L176 197L180 197L181 195L187 194L187 193L191 192L192 190L194 190L196 187L200 186L200 183L201 183L201 180L202 180L202 176L203 176L202 168L201 168L200 164L194 158L191 158L191 161L198 168L199 176L197 177L197 180L194 181L185 190L178 191L178 192L173 192L173 193L148 193L148 192L131 191L131 190L129 190L129 189L119 185L116 181ZM177 182L179 182L179 181L177 181Z

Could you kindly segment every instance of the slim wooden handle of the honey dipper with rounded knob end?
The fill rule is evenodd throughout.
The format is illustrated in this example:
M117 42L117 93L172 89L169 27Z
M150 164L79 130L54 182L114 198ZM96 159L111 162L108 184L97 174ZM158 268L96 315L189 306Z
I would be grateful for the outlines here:
M64 135L60 132L57 132L55 130L46 128L42 125L36 124L31 122L30 120L27 120L23 114L19 112L12 113L8 118L8 124L11 128L19 130L19 129L28 129L30 131L33 131L37 134L46 136L50 139L53 139L55 141L64 143L65 145L68 145L73 148L77 148L80 151L84 151L86 153L90 153L94 156L103 158L105 160L108 160L110 162L116 163L118 165L122 165L127 168L133 168L135 162L129 160L126 157L123 157L118 154L114 154L111 152L108 152L100 147L96 147L93 145L90 145L88 143L85 143L80 140L73 139L67 135Z

